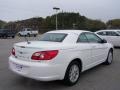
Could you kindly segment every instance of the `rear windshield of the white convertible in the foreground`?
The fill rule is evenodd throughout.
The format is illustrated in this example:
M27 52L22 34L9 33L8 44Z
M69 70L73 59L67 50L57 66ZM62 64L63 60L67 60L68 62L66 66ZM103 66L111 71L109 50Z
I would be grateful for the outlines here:
M40 37L40 41L62 42L67 34L63 33L45 33Z

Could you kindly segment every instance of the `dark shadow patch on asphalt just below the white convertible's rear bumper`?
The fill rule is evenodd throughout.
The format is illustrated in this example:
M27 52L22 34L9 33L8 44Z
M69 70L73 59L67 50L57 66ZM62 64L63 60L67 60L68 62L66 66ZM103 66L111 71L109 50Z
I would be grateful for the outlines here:
M62 81L59 80L42 82L21 76L17 77L16 83L18 83L20 87L26 87L26 90L58 90L66 87L62 84Z

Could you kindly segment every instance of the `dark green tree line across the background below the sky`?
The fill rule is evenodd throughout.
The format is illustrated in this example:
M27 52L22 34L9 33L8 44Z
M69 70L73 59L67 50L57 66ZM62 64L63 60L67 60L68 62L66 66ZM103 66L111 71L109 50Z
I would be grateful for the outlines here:
M101 20L89 19L74 12L60 12L58 16L58 29L82 29L97 31L100 29L120 29L120 19L109 20L104 23ZM0 28L19 31L22 28L32 28L44 33L49 30L55 30L56 15L46 18L34 17L26 20L5 22L0 20Z

